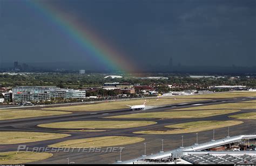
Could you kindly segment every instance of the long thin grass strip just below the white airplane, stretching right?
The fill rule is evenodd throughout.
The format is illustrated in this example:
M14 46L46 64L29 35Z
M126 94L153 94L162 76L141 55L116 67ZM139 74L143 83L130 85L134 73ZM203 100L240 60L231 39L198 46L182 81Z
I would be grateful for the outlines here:
M112 116L106 118L204 118L238 112L240 110L203 110L203 111L166 111L166 112L146 112L146 113L132 113L123 116Z

